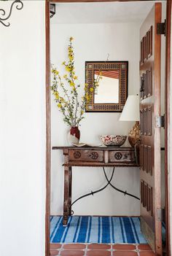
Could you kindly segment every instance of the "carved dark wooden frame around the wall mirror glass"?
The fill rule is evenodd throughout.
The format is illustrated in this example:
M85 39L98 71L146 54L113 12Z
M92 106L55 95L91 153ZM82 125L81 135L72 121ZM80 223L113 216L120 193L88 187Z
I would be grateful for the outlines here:
M128 61L86 61L85 82L88 88L93 88L95 71L119 71L119 102L95 103L95 92L90 91L90 102L86 112L122 112L128 97Z

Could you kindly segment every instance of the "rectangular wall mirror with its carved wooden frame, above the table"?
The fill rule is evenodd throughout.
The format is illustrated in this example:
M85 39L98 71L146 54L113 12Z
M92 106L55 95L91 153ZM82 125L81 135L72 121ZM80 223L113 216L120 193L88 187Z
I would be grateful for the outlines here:
M85 77L89 88L101 72L98 87L90 90L86 112L122 112L128 96L128 61L87 61Z

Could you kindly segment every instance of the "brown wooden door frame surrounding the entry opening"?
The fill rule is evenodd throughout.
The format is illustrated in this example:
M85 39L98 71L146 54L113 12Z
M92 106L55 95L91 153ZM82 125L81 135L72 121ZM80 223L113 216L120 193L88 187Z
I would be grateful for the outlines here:
M104 2L104 1L141 1L141 0L46 0L45 1L45 40L46 40L46 213L45 213L45 256L50 256L50 3L62 2ZM147 0L151 1L151 0ZM166 48L165 48L165 222L166 251L171 255L171 219L170 219L170 145L172 127L170 123L171 92L171 0L167 0L166 9ZM169 56L169 57L168 57Z

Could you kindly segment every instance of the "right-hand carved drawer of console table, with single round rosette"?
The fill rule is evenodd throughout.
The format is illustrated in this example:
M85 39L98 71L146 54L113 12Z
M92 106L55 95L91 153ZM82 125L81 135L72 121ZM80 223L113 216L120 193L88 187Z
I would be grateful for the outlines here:
M136 162L135 152L132 151L109 151L109 163L123 162L130 163Z

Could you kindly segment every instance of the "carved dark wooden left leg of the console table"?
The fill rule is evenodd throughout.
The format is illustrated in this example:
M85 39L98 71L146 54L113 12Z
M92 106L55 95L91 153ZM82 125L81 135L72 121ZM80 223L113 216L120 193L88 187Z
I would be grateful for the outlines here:
M69 216L69 166L64 167L64 203L63 225L67 225Z

